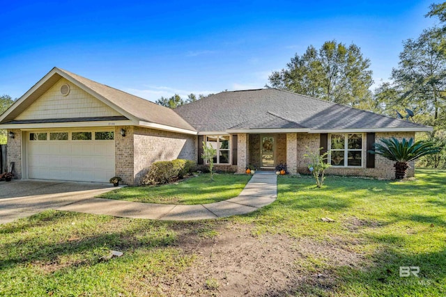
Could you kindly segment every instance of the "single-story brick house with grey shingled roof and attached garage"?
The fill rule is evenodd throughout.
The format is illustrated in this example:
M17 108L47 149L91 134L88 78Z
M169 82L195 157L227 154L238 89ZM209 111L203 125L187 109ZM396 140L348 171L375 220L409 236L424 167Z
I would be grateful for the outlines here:
M0 115L0 129L8 130L8 163L20 179L107 182L117 175L130 185L154 161L203 163L203 141L217 148L221 170L286 163L291 174L307 172L307 150L323 147L328 173L392 178L392 162L367 151L380 138L432 130L275 88L225 91L167 109L57 67Z

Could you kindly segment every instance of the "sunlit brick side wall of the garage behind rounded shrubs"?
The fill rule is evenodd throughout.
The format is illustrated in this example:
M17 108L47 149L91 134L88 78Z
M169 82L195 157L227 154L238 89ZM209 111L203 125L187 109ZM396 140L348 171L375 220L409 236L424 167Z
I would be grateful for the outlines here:
M134 184L140 184L155 161L197 161L197 136L134 127Z

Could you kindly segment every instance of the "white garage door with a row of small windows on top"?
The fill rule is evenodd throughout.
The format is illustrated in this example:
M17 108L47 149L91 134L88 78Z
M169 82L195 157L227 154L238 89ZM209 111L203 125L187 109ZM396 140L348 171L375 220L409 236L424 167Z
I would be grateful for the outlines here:
M113 131L30 132L28 177L108 182L114 177Z

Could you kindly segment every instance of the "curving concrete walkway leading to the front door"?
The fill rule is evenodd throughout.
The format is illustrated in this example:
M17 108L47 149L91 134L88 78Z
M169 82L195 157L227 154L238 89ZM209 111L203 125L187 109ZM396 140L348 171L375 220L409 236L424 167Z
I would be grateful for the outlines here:
M248 214L264 207L277 198L277 176L275 172L256 172L249 180L243 191L236 198L210 204L176 205L153 204L142 202L128 202L103 198L92 198L113 188L89 191L79 197L61 199L61 194L46 199L46 203L39 202L38 207L33 207L27 199L26 207L22 198L8 198L0 200L0 223L6 223L15 218L30 216L45 209L57 209L62 211L77 211L86 214L104 214L124 218L147 218L153 220L203 220L208 218L222 218L237 214ZM36 202L36 201L35 201ZM37 203L34 203L37 206ZM3 209L9 212L2 214ZM11 210L16 211L11 214ZM6 220L5 220L6 219Z

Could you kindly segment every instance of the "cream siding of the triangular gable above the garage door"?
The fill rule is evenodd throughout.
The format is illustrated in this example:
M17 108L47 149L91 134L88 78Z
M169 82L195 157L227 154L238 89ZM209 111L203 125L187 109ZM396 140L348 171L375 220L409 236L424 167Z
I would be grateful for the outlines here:
M67 83L70 93L61 95L61 86ZM36 100L16 120L49 118L89 118L121 115L66 79L60 79Z

